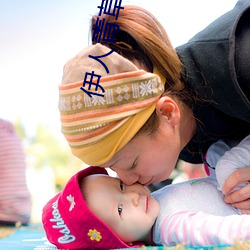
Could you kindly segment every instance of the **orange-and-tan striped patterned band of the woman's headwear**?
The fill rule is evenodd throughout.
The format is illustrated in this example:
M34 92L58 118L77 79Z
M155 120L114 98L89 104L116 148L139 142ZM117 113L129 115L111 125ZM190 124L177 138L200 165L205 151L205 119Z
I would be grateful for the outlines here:
M102 140L152 106L164 91L160 77L144 70L102 77L100 85L104 97L92 98L80 89L82 81L59 86L62 132L71 147Z

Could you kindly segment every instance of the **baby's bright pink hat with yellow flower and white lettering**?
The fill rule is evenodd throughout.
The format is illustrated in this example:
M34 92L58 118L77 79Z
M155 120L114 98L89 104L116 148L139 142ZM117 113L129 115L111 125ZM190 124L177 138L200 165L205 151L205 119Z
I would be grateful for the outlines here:
M45 205L42 222L48 240L60 249L138 247L125 244L88 208L79 181L93 174L108 175L100 167L83 169L72 176L64 189Z

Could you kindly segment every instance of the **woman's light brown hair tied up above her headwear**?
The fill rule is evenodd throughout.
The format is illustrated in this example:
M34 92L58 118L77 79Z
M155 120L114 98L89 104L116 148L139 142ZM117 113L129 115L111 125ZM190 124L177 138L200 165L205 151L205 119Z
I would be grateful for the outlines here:
M92 37L98 18L99 20L105 18L106 23L119 26L119 31L114 32L113 37L116 43L103 41L101 34L101 44L131 61L138 62L149 72L153 72L156 68L166 78L164 94L176 96L179 101L187 105L190 103L190 93L181 81L182 63L178 54L163 26L149 11L128 5L120 10L117 20L111 15L93 16ZM97 41L93 41L93 44L95 43ZM138 133L153 134L157 128L158 119L154 112Z

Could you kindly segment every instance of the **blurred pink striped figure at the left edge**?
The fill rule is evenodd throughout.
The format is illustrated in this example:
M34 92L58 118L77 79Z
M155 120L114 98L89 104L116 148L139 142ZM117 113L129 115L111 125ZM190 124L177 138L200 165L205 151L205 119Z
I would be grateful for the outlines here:
M31 197L26 185L25 156L12 124L0 119L0 223L28 223Z

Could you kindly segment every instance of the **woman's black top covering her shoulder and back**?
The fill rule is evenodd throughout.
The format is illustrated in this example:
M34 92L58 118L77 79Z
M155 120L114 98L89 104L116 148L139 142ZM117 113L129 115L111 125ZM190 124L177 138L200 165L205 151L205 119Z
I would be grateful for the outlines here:
M212 143L250 134L250 0L176 50L185 83L206 100L193 106L197 131L180 158L202 163Z

